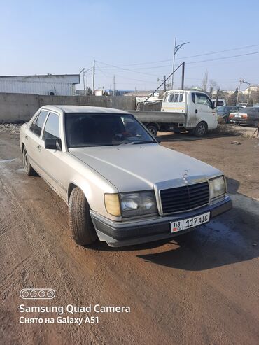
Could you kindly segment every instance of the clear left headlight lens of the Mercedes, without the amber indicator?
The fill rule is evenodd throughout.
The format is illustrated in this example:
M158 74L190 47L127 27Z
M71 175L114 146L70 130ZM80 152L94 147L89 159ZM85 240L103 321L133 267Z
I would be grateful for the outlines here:
M123 217L158 213L153 191L122 193L120 194L120 205Z

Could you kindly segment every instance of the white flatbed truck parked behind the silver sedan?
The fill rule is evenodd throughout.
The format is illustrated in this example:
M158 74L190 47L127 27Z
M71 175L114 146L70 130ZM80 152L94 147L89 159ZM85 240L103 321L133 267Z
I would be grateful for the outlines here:
M218 126L216 110L204 92L171 90L165 92L161 111L131 111L154 136L157 132L188 130L195 136L204 136Z

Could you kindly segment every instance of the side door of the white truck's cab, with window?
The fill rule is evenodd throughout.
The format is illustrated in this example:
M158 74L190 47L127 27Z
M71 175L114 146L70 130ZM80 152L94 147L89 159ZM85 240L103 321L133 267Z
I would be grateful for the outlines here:
M218 125L217 117L216 117L216 110L213 109L214 106L212 104L211 99L202 92L195 92L196 96L196 107L195 107L195 114L196 114L196 123L199 122L206 122L209 129L216 128Z

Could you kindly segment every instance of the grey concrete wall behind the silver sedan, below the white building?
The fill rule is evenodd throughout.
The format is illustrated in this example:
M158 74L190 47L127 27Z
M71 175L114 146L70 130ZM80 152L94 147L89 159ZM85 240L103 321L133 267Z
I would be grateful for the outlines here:
M0 123L27 121L45 105L104 106L134 110L135 97L106 96L39 96L38 94L0 93Z

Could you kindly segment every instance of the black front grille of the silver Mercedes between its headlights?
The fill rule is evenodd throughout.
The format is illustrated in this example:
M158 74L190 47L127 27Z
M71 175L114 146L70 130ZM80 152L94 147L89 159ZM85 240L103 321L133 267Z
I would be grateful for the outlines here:
M163 213L188 211L209 204L209 183L164 189L160 191Z

